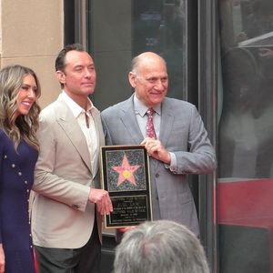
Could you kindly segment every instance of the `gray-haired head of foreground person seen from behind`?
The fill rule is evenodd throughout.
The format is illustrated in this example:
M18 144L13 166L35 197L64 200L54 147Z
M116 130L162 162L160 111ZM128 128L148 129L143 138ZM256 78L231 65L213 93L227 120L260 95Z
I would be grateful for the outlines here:
M145 222L126 231L116 247L115 273L209 273L198 238L168 220Z

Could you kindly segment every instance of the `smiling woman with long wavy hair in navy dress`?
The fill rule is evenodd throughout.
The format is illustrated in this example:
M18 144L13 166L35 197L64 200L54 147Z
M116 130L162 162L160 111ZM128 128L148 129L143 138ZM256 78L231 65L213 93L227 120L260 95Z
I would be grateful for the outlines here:
M29 194L38 156L41 88L25 66L0 71L0 273L34 273Z

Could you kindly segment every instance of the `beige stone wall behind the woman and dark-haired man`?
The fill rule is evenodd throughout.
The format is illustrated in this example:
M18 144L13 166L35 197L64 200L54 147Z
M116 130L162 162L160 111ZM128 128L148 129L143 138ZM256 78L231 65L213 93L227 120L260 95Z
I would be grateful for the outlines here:
M63 14L61 0L0 1L0 66L34 69L42 86L42 107L59 94L54 66L64 41Z

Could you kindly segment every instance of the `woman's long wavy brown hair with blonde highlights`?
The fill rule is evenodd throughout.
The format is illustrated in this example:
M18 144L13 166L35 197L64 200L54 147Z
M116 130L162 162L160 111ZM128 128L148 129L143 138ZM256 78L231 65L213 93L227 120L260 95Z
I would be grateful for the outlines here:
M15 117L18 91L27 75L35 78L37 86L35 102L27 115ZM25 139L29 146L39 150L36 138L38 116L41 111L40 106L37 104L39 96L41 96L41 86L35 72L31 68L14 65L5 66L0 71L0 128L13 140L15 150L17 150L22 139Z

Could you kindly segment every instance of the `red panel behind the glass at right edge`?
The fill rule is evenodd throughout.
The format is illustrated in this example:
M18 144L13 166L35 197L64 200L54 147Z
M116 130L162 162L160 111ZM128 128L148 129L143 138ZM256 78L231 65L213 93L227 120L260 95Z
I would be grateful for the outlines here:
M273 179L218 183L218 221L273 227Z

